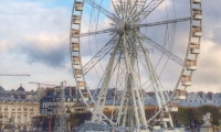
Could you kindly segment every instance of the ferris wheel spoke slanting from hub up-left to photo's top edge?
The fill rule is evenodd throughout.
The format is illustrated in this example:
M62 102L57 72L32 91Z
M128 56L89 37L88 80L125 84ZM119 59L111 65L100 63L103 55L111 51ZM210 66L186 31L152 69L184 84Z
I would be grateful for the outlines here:
M107 11L106 9L104 9L103 7L101 7L99 4L97 4L96 2L94 2L93 0L85 0L85 2L87 2L93 8L97 9L99 12L102 12L107 18L109 18L112 21L116 22L117 18L116 18L115 14L110 13L109 11Z

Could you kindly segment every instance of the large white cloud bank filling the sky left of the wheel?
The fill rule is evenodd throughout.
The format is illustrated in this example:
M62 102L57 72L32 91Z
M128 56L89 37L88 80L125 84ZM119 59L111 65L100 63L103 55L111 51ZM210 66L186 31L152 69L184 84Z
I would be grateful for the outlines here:
M27 89L29 81L62 81L74 85L69 50L71 12L44 8L49 1L0 1L1 73L30 77L2 77L1 86Z

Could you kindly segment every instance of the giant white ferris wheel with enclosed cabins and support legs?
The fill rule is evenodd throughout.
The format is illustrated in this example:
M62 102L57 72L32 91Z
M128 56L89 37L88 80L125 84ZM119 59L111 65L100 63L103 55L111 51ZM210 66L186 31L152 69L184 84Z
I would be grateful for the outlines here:
M191 86L201 25L201 0L75 0L72 67L91 127L175 129L170 112Z

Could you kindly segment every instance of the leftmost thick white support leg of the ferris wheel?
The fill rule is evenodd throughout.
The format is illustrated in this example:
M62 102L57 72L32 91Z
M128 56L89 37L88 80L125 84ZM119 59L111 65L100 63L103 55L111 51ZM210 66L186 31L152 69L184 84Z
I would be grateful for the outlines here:
M105 77L104 77L104 80L102 82L102 88L101 88L101 91L99 91L98 100L97 100L97 103L95 106L95 110L93 112L93 118L92 118L93 122L97 122L97 123L102 122L103 109L104 109L105 101L106 101L106 94L107 94L107 90L108 90L108 84L109 84L109 80L110 80L112 69L113 69L113 65L114 65L114 58L115 58L115 55L116 55L116 52L117 52L117 48L118 48L118 45L119 45L119 40L120 38L118 38L118 41L117 41L117 43L114 47L114 51L112 53L112 56L109 58L109 62L108 62L106 70L105 70Z

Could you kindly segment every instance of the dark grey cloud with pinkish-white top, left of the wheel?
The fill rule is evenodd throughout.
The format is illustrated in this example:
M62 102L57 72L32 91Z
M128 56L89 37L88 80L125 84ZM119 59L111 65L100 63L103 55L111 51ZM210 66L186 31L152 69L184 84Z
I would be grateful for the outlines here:
M60 37L52 34L27 35L22 44L18 44L17 54L24 54L28 63L42 63L50 67L62 67L71 62L69 56L67 34Z

